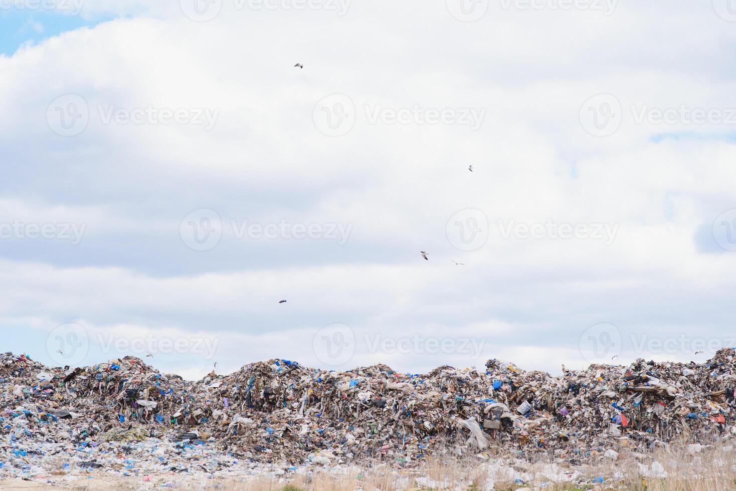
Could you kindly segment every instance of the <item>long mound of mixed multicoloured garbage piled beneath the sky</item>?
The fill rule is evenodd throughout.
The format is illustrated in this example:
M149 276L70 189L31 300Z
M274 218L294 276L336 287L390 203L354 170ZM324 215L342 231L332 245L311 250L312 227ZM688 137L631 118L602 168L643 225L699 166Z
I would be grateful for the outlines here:
M734 349L705 363L639 359L561 376L497 360L485 370L443 366L422 375L386 365L338 372L272 359L184 381L134 356L49 368L7 353L0 420L13 465L29 465L58 443L92 453L149 439L288 465L375 458L411 465L448 448L575 464L615 458L622 448L729 438L736 432L729 417L735 365ZM158 459L166 465L161 451Z

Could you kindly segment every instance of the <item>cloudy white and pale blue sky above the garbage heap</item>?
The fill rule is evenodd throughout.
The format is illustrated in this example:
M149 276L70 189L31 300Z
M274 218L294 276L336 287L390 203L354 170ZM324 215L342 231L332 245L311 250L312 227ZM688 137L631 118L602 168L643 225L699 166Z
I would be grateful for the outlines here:
M732 0L0 0L1 349L706 359L735 45Z

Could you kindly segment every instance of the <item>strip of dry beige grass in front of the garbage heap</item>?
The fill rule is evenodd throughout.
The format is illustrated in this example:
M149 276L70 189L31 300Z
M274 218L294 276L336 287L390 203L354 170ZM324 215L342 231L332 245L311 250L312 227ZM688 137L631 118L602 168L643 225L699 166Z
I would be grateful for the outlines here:
M603 483L593 483L601 476ZM56 477L56 476L54 476ZM216 491L404 491L467 490L514 491L528 488L543 491L634 490L634 491L736 491L736 451L729 445L713 445L700 453L687 448L659 450L653 454L637 454L620 449L618 459L600 459L592 465L571 466L565 462L484 461L469 459L436 459L415 469L394 468L381 463L370 468L317 468L309 475L243 477L240 479L202 479L202 476L162 475L143 481L141 476L118 477L105 473L95 479L57 481L44 485L38 481L0 481L4 490L71 489ZM516 481L521 479L521 481Z

